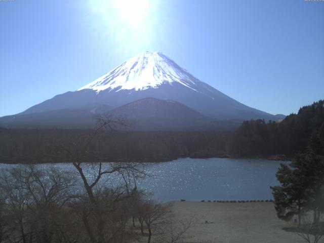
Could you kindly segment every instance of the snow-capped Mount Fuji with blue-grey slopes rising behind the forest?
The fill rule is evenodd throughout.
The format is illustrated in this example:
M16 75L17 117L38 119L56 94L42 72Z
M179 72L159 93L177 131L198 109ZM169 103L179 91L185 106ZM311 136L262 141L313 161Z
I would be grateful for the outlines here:
M146 99L149 97L155 102ZM123 110L128 111L128 113L123 111L124 115L134 117L134 114L130 113L137 112L137 117L146 117L146 109L158 109L161 102L168 102L163 107L177 105L177 109L182 109L183 114L188 112L191 114L191 120L193 117L199 117L200 127L203 126L201 120L204 119L208 120L209 124L211 119L221 123L224 123L224 120L235 120L237 123L241 120L258 118L277 120L275 115L241 104L200 81L165 54L144 52L77 91L56 95L22 113L1 117L0 126L89 127L94 114L120 113L119 108L138 100L141 102L137 102L137 106L145 108L137 107L132 110L124 107ZM165 111L165 118L171 122L173 118L169 119L167 109ZM154 114L152 112L150 114L150 120L154 119ZM183 117L187 120L186 115ZM210 126L208 127L210 129Z

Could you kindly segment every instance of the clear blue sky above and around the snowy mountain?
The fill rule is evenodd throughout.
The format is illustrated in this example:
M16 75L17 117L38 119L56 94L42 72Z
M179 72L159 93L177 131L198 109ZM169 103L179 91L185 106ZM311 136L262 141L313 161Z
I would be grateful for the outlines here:
M269 113L324 98L324 2L148 1L136 26L106 0L0 1L0 116L146 50Z

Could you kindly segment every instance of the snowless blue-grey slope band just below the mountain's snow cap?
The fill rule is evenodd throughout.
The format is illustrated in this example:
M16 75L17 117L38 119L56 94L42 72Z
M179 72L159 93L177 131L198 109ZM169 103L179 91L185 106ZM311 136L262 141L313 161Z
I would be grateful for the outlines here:
M204 88L213 89L207 84ZM206 95L207 94L207 95ZM138 99L154 97L180 102L201 114L217 119L258 119L276 120L277 117L266 112L245 106L223 93L212 90L198 93L180 84L162 84L158 88L148 88L142 91L118 91L104 90L97 93L94 90L80 90L57 95L50 100L34 105L22 112L22 114L43 112L55 109L88 109L92 110L102 104L118 107ZM71 104L71 105L70 105Z

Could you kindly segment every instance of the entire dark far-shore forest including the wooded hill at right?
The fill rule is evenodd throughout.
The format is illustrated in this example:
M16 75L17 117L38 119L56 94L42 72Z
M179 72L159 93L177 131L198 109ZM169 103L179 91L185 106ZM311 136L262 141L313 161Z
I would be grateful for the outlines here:
M0 129L0 163L59 163L82 150L94 130ZM103 132L87 161L167 161L179 157L293 157L313 133L324 139L324 101L300 108L281 122L244 121L235 132Z

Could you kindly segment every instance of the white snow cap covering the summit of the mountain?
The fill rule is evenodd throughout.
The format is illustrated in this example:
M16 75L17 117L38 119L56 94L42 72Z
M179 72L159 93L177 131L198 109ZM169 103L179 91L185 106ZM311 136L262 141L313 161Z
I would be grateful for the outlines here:
M163 53L143 52L78 90L138 91L174 82L195 90L193 87L195 79Z

